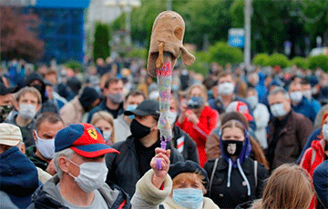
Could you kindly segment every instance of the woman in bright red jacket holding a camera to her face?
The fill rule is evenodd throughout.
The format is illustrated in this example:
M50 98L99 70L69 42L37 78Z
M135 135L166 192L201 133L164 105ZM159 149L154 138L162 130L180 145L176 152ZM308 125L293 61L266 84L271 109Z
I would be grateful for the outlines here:
M204 85L191 85L187 93L187 103L181 104L176 123L196 142L201 167L207 161L206 139L219 121L218 112L210 107L207 100L208 96Z

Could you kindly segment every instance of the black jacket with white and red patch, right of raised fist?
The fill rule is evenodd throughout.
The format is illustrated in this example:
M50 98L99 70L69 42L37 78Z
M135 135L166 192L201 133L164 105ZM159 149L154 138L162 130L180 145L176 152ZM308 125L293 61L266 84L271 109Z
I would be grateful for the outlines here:
M180 144L181 146L177 147L179 140L183 140L183 144ZM173 139L170 141L170 144L177 148L185 160L190 160L200 164L196 143L190 138L189 134L182 131L177 125L174 125L173 127Z

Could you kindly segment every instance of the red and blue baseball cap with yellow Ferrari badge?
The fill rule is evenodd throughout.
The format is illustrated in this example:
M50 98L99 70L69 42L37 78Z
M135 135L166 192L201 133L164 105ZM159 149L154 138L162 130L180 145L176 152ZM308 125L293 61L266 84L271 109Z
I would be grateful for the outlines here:
M77 154L92 158L118 150L105 143L100 131L92 124L70 124L55 136L55 152L71 148Z

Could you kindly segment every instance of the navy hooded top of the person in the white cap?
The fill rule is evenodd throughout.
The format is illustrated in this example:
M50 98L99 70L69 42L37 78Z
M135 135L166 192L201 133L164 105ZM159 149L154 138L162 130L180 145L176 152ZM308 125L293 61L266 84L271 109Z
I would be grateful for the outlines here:
M26 208L38 185L36 166L17 147L0 154L0 190L14 204Z

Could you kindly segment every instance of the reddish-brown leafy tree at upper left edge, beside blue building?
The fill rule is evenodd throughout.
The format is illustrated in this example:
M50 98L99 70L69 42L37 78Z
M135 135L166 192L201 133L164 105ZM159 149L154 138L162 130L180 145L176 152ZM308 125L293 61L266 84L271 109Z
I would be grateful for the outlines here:
M40 21L36 15L23 15L19 8L0 7L1 57L38 60L44 52L44 42L37 37Z

